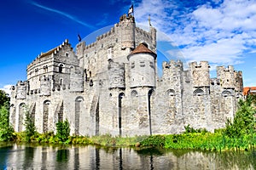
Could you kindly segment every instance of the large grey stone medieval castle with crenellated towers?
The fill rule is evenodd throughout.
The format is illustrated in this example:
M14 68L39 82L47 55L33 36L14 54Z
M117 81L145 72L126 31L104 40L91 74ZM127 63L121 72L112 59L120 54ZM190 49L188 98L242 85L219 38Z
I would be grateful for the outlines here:
M27 66L27 80L12 87L10 123L25 130L25 107L37 131L56 132L70 123L75 135L181 133L184 126L213 131L224 127L242 98L242 74L207 61L183 70L180 60L162 64L158 77L156 29L144 31L122 15L96 42L79 42L76 53L65 40Z

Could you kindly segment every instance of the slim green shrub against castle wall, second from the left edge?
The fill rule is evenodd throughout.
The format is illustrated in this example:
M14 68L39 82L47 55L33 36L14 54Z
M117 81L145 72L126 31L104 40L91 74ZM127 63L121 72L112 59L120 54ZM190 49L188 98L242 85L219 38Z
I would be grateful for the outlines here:
M34 120L32 118L32 115L29 114L28 109L26 108L26 113L25 113L25 136L26 136L26 142L30 142L31 138L33 135L36 134L36 126L34 123Z

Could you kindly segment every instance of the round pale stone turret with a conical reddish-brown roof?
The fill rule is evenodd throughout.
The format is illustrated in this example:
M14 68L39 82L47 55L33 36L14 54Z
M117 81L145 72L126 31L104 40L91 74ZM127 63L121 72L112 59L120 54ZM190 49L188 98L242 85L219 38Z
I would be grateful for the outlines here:
M130 87L155 87L156 54L141 43L128 55Z

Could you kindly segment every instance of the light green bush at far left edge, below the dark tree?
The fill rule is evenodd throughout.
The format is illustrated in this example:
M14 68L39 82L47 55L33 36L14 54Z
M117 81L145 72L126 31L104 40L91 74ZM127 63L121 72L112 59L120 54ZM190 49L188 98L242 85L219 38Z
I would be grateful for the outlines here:
M14 139L14 128L9 124L9 111L7 104L0 108L0 141L10 141Z

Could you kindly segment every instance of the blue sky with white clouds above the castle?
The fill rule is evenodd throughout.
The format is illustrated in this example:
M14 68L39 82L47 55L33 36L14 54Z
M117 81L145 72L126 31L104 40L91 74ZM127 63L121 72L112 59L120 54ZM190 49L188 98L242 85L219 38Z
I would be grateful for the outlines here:
M150 15L157 29L160 62L207 60L211 77L217 65L234 65L244 87L256 86L256 0L1 0L0 89L25 81L41 52L65 39L75 48L78 34L88 42L118 23L131 3L137 26L148 29Z

